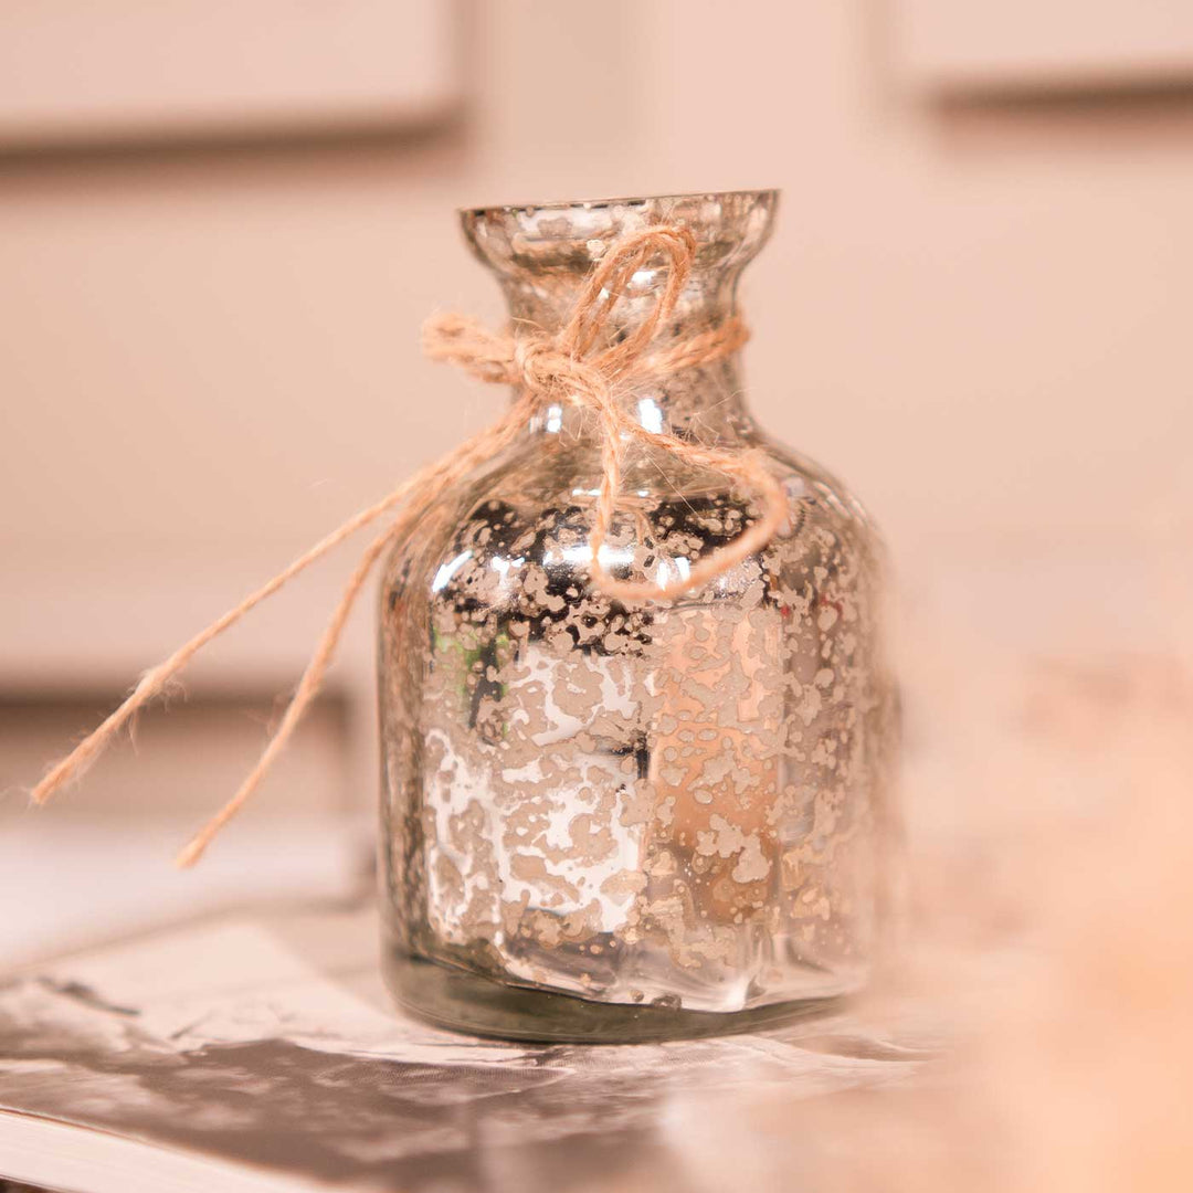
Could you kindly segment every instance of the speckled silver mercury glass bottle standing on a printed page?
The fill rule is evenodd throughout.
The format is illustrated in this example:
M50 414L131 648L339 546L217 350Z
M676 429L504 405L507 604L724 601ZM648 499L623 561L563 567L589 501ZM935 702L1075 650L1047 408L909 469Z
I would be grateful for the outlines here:
M618 236L696 236L663 335L735 309L774 192L465 211L514 326L552 329ZM641 317L635 274L610 334ZM526 1039L635 1040L777 1022L864 983L891 728L879 550L817 465L774 444L736 356L633 385L651 429L762 449L790 496L761 554L675 601L589 581L601 475L583 412L548 406L401 543L381 602L382 908L397 1000ZM628 453L604 548L680 574L738 534L748 495Z

